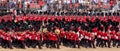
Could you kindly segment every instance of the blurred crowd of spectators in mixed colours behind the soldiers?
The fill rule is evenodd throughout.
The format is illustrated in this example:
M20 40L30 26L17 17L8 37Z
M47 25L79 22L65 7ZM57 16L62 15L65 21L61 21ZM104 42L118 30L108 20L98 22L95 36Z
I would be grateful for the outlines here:
M119 0L0 0L0 9L42 9L51 11L111 10Z

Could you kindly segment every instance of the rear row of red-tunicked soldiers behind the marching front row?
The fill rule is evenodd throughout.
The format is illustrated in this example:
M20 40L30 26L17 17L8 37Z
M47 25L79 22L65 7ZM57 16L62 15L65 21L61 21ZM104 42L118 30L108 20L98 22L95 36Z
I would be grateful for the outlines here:
M4 31L24 31L36 30L47 27L51 30L55 27L64 28L65 30L75 30L81 27L82 30L92 32L92 29L97 27L99 30L119 31L119 16L48 16L48 15L33 15L33 16L17 16L15 20L4 20L0 22L0 29Z

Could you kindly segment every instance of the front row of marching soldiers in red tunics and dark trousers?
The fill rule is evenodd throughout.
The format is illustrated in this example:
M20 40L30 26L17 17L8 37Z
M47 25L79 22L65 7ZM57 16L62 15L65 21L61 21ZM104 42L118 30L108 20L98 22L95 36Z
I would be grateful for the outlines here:
M95 43L96 42L96 43ZM42 33L36 31L24 32L7 32L0 31L0 45L3 48L39 48L44 45L47 48L60 48L60 45L76 48L80 46L85 48L96 47L119 47L120 34L115 30L111 32L99 31L97 28L93 32L87 32L78 28L78 31L64 31L62 29L55 29L48 31L43 29ZM112 46L111 46L112 45Z

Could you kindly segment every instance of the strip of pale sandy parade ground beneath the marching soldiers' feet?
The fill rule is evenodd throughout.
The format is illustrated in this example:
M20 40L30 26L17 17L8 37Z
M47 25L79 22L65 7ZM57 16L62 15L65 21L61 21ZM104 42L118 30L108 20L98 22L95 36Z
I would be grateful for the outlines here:
M55 48L45 48L43 47L42 49L38 49L38 48L26 48L26 49L4 49L4 48L0 48L0 51L120 51L120 48L70 48L70 47L64 47L61 46L60 49L55 49Z

